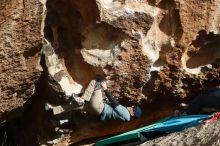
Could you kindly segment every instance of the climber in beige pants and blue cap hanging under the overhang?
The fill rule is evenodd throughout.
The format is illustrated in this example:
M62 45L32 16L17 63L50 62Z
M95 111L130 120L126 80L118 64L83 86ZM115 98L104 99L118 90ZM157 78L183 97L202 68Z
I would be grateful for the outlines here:
M107 100L104 100L102 90ZM81 105L78 109L85 110L91 115L99 115L101 121L130 121L131 117L139 118L142 114L142 110L138 104L127 108L119 104L118 100L108 91L105 81L92 80L84 94L81 97L75 96L74 99L77 99L77 103ZM77 109L71 104L54 107L47 104L47 106L53 109L54 115Z

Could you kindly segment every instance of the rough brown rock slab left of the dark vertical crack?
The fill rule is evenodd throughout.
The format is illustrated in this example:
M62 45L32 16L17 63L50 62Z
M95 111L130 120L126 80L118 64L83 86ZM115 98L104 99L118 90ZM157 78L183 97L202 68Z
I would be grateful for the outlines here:
M43 40L42 3L0 1L0 117L35 92Z

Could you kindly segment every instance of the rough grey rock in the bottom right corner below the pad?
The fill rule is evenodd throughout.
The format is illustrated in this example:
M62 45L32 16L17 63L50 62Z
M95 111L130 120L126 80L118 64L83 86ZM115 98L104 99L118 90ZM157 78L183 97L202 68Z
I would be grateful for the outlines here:
M141 146L191 146L191 145L220 145L220 121L198 125L181 132L172 133L145 142Z

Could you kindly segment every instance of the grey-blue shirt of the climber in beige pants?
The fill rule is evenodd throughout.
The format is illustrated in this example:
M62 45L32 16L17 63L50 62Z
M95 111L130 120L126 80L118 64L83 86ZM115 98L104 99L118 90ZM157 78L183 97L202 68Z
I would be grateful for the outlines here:
M100 115L101 121L107 120L120 120L120 121L130 121L131 116L127 108L119 104L117 107L113 108L108 103L104 104L104 109Z

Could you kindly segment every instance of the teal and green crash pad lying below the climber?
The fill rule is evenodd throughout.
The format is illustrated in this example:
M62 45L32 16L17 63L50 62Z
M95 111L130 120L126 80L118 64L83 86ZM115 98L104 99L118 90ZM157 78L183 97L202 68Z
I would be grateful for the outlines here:
M106 138L96 142L96 146L122 145L135 142L144 142L154 132L171 133L198 125L201 121L211 118L211 115L187 115L179 117L168 117L155 122L154 124L132 130L120 135Z

